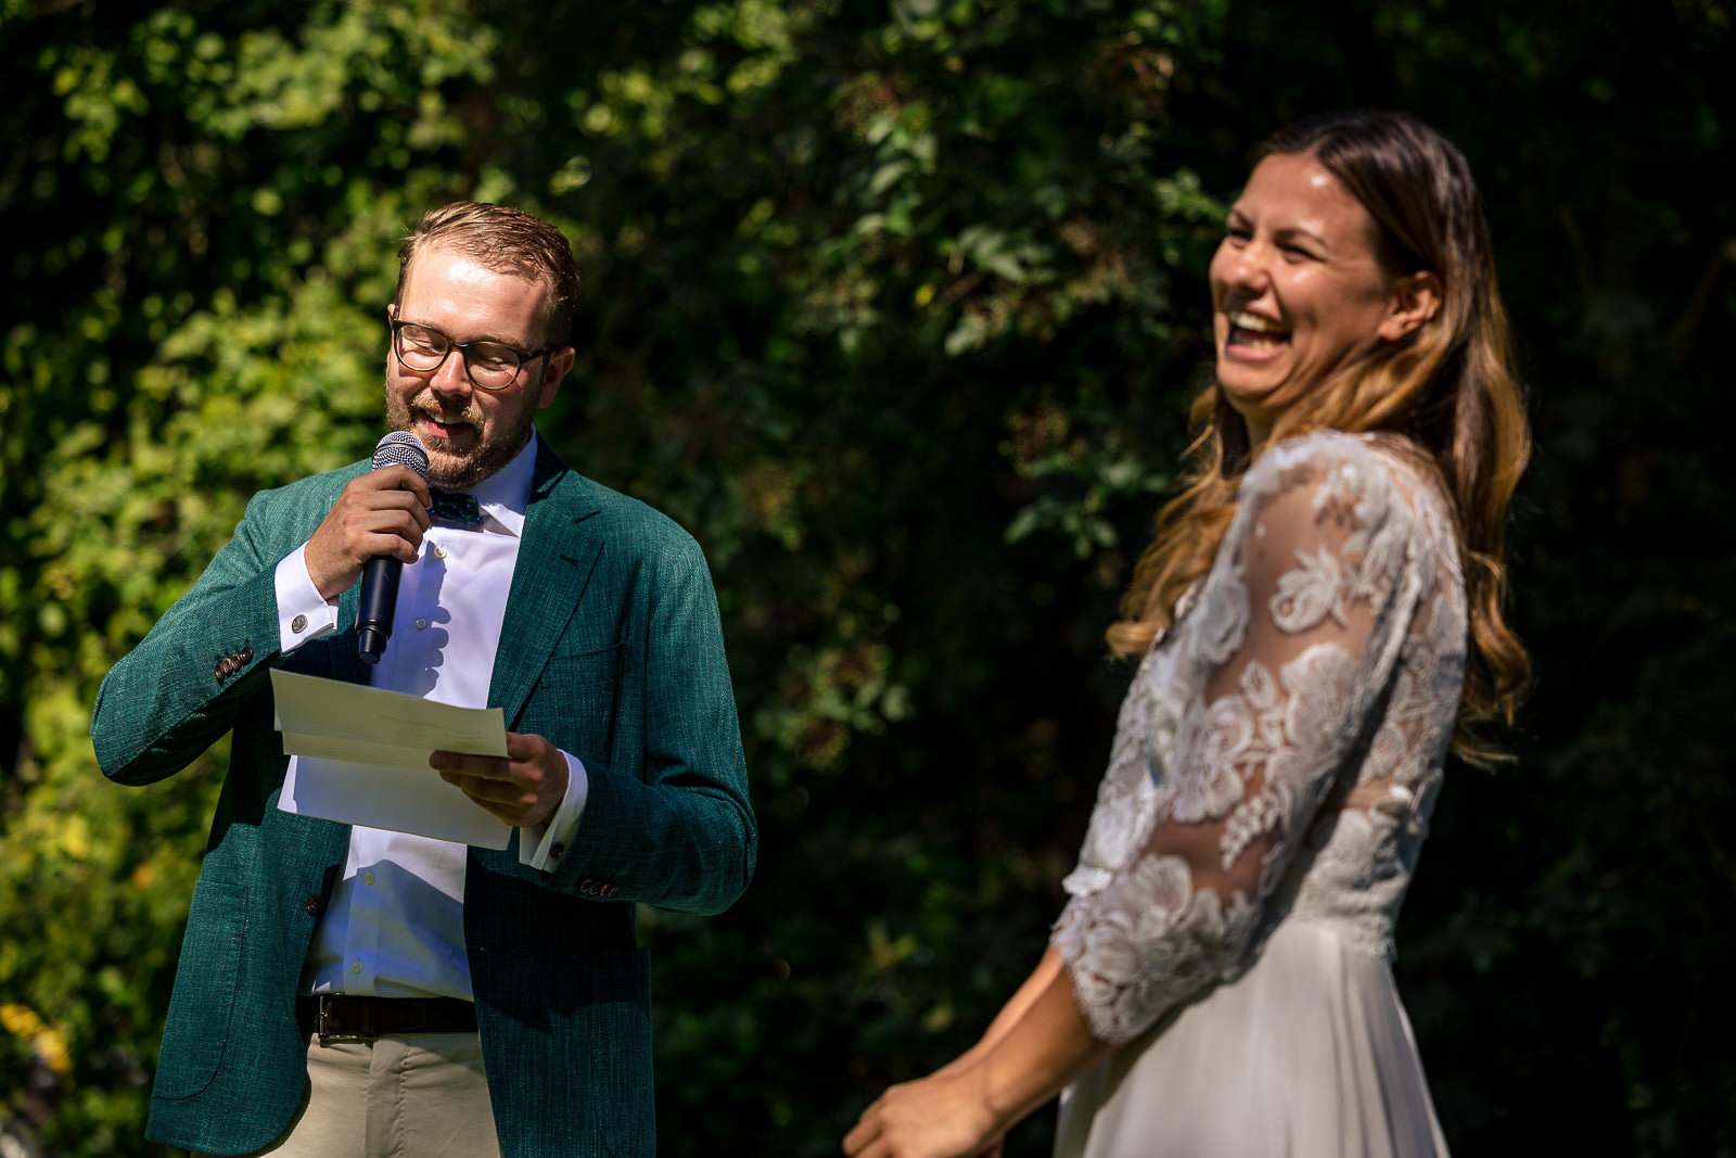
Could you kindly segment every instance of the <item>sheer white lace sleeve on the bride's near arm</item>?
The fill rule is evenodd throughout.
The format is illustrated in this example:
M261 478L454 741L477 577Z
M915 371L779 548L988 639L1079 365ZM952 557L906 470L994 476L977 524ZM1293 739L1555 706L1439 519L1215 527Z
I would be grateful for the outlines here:
M1054 944L1101 1040L1245 969L1323 800L1356 790L1377 738L1425 740L1384 729L1441 563L1417 490L1344 434L1250 469L1212 573L1128 691L1066 882Z

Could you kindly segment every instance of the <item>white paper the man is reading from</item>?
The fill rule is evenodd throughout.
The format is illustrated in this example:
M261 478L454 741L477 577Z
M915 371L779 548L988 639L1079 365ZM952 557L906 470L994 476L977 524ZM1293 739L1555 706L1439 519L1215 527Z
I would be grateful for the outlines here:
M503 849L512 826L429 767L429 753L507 753L500 708L448 703L318 675L271 672L283 750L278 807L349 825Z

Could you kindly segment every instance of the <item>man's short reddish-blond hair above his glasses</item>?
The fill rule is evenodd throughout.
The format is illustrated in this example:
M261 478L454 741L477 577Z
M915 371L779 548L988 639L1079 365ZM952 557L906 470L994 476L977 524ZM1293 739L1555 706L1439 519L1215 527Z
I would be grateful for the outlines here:
M464 253L484 269L540 281L549 290L545 344L566 345L578 307L578 264L566 236L547 220L505 205L453 201L429 210L398 250L398 297L410 262L424 250Z

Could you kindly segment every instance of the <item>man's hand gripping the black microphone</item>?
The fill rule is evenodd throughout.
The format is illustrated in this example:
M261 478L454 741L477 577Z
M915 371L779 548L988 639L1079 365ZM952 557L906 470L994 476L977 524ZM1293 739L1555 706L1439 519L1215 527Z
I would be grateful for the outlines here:
M380 467L345 483L302 552L319 597L332 602L342 595L377 556L415 563L431 505L429 484L404 465Z

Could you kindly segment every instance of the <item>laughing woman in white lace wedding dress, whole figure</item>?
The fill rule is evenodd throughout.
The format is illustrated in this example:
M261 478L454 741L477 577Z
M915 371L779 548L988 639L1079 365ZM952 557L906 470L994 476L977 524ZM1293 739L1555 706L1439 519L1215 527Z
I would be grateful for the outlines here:
M1274 137L1212 260L1187 490L1109 642L1139 656L1049 951L844 1149L1444 1155L1387 962L1450 747L1512 712L1502 526L1528 434L1463 156L1391 113Z

